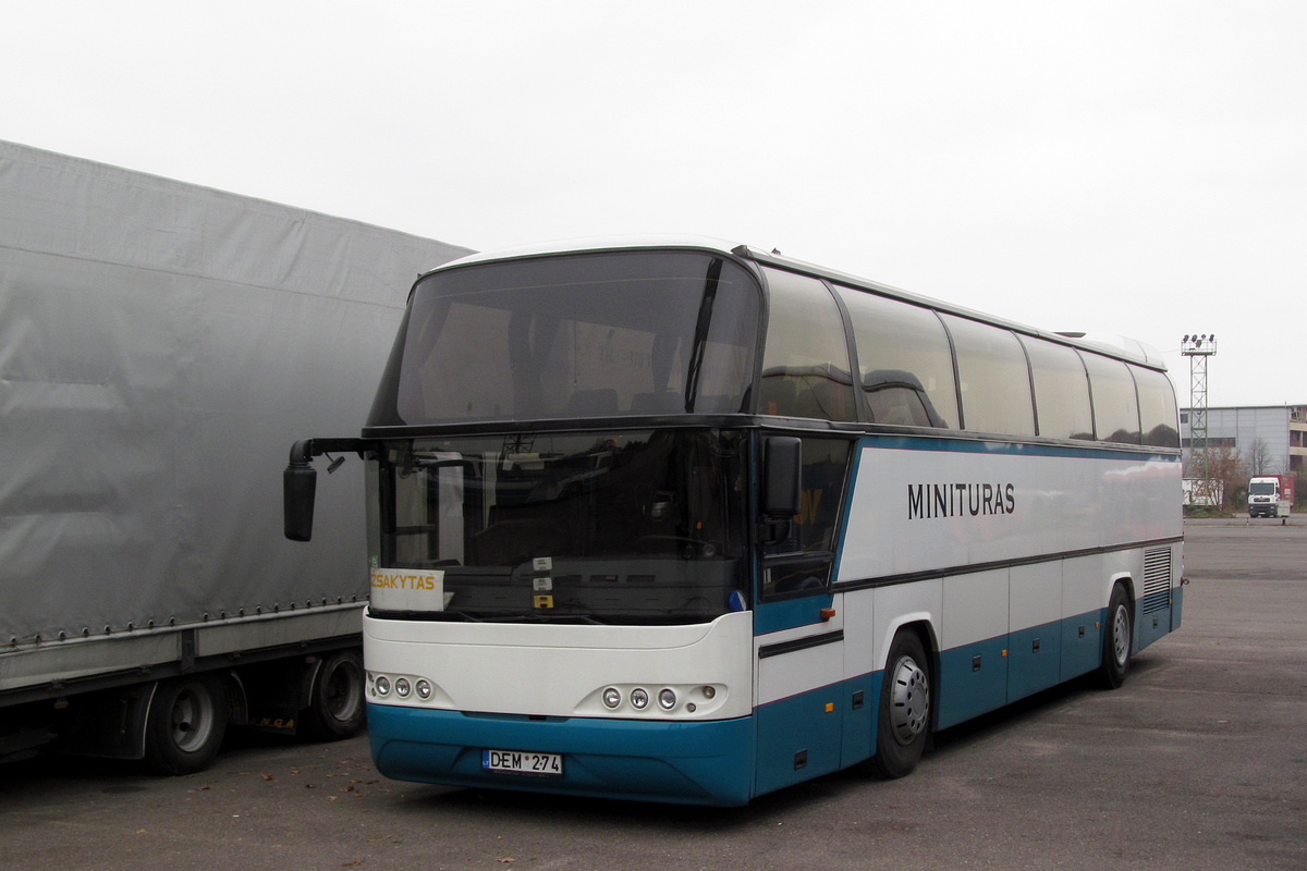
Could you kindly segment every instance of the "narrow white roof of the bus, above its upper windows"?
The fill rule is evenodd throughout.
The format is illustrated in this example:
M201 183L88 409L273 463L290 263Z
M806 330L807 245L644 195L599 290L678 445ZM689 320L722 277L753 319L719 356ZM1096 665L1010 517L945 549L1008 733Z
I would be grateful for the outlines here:
M865 290L882 296L891 296L894 299L902 299L908 303L915 303L924 306L927 308L933 308L936 311L948 312L951 315L958 315L961 317L967 317L971 320L984 321L987 324L995 324L999 326L1005 326L1008 329L1016 330L1018 333L1025 333L1027 336L1038 336L1048 341L1053 341L1061 345L1072 345L1076 347L1084 347L1086 350L1093 350L1099 354L1107 354L1110 356L1116 356L1119 359L1129 360L1132 363L1138 363L1155 370L1166 370L1166 363L1157 349L1138 342L1132 338L1116 334L1099 334L1099 333L1059 333L1038 329L1027 324L1021 324L1017 321L1010 321L1004 317L997 317L995 315L987 315L984 312L966 308L963 306L957 306L940 299L933 299L931 296L923 296L920 294L914 294L891 285L885 285L877 281L870 281L868 278L860 278L857 276L851 276L827 266L819 266L817 264L805 262L802 260L795 260L792 257L786 257L779 251L765 252L757 248L752 248L748 244L732 243L715 236L702 236L691 234L654 234L654 235L614 235L614 236L589 236L579 239L561 239L554 242L540 242L527 245L518 245L512 248L499 248L494 251L484 251L459 260L452 260L442 266L431 269L422 274L426 277L433 273L446 272L450 269L457 269L460 266L467 266L472 264L494 262L502 260L518 260L524 257L541 257L550 255L565 255L565 253L583 253L583 252L599 252L599 251L631 251L639 248L680 248L680 249L694 249L694 251L711 251L716 253L733 257L745 262L766 264L769 266L778 266L780 269L788 269L791 272L800 272L817 278L825 278L835 283L846 285L850 287L856 287L859 290Z

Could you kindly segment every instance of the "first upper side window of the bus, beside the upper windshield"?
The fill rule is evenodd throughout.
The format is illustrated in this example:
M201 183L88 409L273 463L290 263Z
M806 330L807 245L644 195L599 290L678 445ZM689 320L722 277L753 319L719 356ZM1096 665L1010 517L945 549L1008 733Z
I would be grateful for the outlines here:
M848 341L835 298L816 278L767 270L771 308L758 413L853 420Z

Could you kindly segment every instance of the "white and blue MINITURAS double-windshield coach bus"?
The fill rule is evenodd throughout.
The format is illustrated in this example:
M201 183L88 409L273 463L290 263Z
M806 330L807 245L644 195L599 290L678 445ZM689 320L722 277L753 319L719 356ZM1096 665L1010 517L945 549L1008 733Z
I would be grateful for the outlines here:
M422 274L358 437L387 777L689 804L867 763L1180 626L1155 351L748 245ZM361 569L362 571L362 567Z

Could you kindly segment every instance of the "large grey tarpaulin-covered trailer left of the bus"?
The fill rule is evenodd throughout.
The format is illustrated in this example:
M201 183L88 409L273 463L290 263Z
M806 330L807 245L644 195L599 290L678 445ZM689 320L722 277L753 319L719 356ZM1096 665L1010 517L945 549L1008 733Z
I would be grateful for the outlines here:
M358 730L361 464L305 548L286 445L358 430L413 278L464 253L0 141L0 759Z

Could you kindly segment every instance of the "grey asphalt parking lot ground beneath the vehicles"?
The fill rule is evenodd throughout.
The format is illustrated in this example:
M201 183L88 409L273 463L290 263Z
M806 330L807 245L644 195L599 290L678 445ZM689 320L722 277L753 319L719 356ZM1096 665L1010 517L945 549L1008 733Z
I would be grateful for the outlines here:
M1297 518L1295 518L1297 520ZM1184 626L1074 684L844 772L704 810L397 784L366 739L244 739L209 772L0 769L0 868L1307 867L1307 525L1187 526Z

